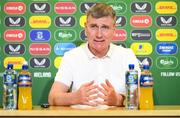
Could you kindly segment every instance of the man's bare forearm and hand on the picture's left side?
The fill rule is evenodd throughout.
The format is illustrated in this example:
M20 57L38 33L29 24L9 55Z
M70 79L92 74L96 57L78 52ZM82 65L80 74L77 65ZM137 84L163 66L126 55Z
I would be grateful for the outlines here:
M86 104L93 106L90 100L96 99L97 86L93 85L94 82L83 84L79 90L75 92L68 92L69 87L61 82L54 82L49 93L48 102L50 105L73 105L73 104Z

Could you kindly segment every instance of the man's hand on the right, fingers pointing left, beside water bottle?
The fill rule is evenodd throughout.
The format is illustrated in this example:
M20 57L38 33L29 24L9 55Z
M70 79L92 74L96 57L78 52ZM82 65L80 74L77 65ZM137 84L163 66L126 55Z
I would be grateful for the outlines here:
M98 90L102 94L98 94L98 97L102 98L104 101L98 101L98 104L109 105L109 106L122 106L123 96L116 93L112 84L106 80L105 84L101 84L102 87L98 87Z

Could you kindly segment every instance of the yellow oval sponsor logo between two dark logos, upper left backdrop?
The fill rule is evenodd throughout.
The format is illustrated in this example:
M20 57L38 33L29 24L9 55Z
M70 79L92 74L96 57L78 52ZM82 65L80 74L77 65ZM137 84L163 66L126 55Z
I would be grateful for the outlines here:
M49 16L31 16L29 25L32 28L48 28L51 25L51 18Z

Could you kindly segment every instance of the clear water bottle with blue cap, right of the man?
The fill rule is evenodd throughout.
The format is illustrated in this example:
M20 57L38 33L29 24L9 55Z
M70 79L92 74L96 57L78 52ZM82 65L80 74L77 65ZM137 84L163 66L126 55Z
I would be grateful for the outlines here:
M126 109L138 109L138 71L134 64L129 64L126 72Z

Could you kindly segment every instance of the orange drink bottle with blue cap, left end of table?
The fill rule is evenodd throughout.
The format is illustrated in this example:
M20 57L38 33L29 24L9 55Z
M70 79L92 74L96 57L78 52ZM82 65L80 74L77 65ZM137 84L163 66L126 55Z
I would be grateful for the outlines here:
M32 109L32 79L27 63L22 65L22 70L18 76L18 86L18 109Z

